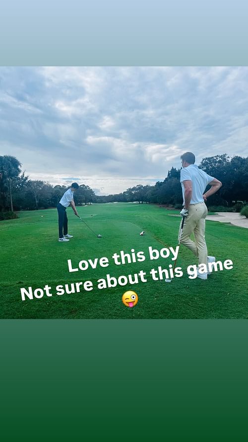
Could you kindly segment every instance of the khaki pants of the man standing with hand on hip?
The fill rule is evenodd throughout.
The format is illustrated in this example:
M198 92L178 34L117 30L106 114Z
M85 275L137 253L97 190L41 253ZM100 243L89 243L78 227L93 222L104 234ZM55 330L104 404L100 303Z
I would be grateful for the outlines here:
M185 219L180 244L183 244L189 250L191 250L191 252L198 258L199 264L207 265L207 246L205 241L206 216L207 206L204 202L189 205L188 215ZM190 239L191 233L194 233L195 242Z

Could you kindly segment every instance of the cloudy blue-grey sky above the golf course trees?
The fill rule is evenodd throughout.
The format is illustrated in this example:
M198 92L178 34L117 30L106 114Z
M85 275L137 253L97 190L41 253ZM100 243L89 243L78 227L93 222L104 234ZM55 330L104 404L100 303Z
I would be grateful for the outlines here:
M248 156L247 67L0 67L0 155L98 195Z

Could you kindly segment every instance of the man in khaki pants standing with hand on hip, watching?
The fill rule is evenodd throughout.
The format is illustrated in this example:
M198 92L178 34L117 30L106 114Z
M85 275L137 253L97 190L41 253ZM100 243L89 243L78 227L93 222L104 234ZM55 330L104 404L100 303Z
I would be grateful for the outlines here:
M207 175L204 171L194 164L195 156L191 152L186 152L181 156L182 169L180 181L182 183L184 208L181 215L185 217L185 223L181 236L181 244L184 244L198 258L199 265L215 261L215 257L207 256L207 246L205 242L205 218L207 216L207 206L205 201L207 197L217 192L222 183ZM211 188L203 194L207 185ZM190 239L191 233L194 233L195 242ZM199 273L197 276L201 279L207 279L207 274Z

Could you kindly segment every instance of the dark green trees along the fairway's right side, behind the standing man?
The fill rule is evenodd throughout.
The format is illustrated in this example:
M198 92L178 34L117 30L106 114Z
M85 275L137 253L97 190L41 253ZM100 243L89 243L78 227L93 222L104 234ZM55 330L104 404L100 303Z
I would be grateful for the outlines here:
M236 155L230 158L227 154L206 157L199 164L199 168L222 182L220 190L208 198L207 204L230 208L238 201L244 203L248 201L248 157ZM96 200L97 202L138 201L182 207L180 171L181 169L172 167L164 181L157 181L153 186L138 184L119 194L96 196Z

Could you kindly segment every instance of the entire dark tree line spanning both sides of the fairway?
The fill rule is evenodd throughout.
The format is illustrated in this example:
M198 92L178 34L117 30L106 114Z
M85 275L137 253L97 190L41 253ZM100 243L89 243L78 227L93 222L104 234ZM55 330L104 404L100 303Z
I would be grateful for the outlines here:
M232 207L237 201L248 201L248 157L227 154L204 158L199 167L222 182L221 189L212 195L208 203ZM51 185L42 180L31 180L21 171L21 163L12 156L0 156L0 211L35 210L56 207L64 185ZM172 167L164 181L155 185L141 185L118 194L96 195L87 185L79 185L74 194L77 206L114 201L169 204L181 207L183 203L180 169Z

